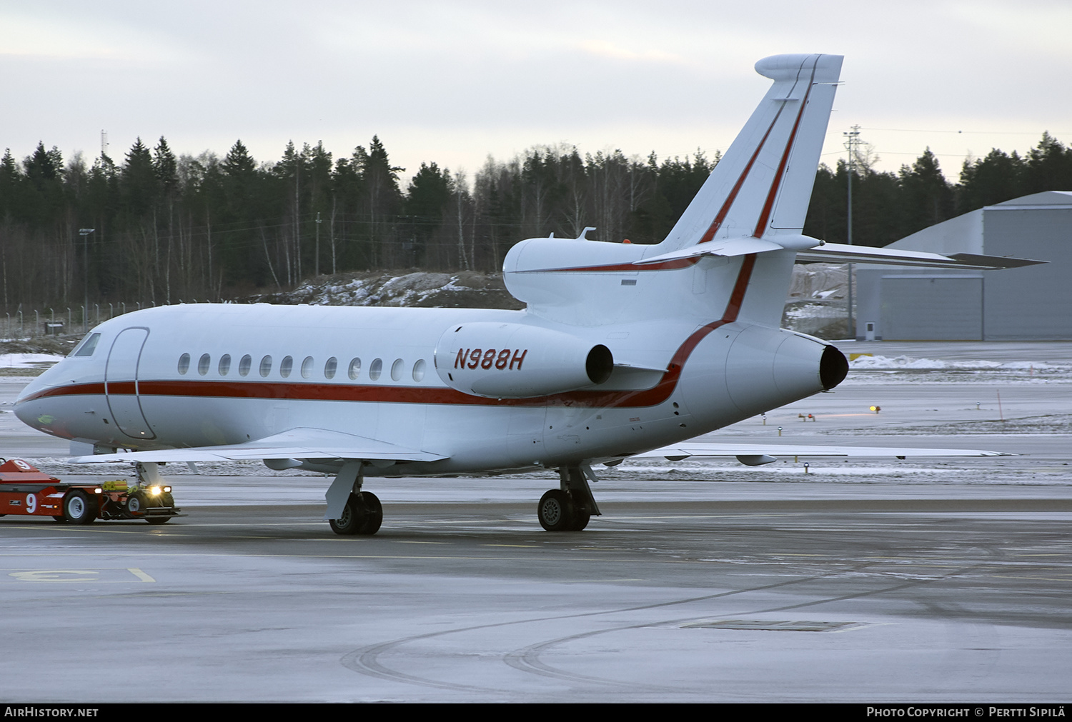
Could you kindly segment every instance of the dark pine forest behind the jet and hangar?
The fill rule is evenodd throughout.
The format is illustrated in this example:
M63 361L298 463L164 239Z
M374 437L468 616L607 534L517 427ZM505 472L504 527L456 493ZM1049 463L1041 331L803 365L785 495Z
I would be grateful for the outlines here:
M853 242L885 245L932 224L1029 193L1072 189L1072 149L1043 134L1028 153L991 151L949 182L926 150L897 172L855 159ZM373 137L334 156L288 144L257 162L236 141L219 157L138 139L120 163L64 159L45 144L0 161L4 312L219 301L358 270L496 271L515 242L554 232L661 240L718 162L536 147L489 159L472 178L422 163L405 187ZM406 178L411 177L405 175ZM848 163L821 166L804 232L846 240ZM91 231L89 229L92 229ZM77 312L76 312L77 315Z

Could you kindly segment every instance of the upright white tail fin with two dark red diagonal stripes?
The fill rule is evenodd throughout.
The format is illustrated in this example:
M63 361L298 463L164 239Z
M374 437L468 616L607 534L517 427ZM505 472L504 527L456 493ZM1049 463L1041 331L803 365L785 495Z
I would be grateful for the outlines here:
M659 244L661 253L716 239L801 234L840 71L842 56L833 55L756 63L774 85Z

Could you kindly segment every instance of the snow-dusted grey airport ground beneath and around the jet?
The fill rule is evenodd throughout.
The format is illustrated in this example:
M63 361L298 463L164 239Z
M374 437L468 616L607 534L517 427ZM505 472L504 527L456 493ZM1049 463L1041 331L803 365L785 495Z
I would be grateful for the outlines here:
M1066 702L1072 372L1032 364L1072 344L838 345L944 366L704 440L1026 455L625 462L557 535L551 473L370 479L373 538L319 521L323 476L167 467L189 515L164 526L0 520L0 700ZM0 413L0 456L85 476L65 451Z

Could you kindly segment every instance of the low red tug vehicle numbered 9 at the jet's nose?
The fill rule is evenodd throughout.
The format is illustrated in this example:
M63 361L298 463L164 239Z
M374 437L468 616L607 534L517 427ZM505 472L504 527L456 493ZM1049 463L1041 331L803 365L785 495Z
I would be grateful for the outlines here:
M91 524L96 518L144 518L164 524L185 516L175 506L172 487L125 481L103 484L60 481L20 458L0 458L0 516L50 516L54 522Z

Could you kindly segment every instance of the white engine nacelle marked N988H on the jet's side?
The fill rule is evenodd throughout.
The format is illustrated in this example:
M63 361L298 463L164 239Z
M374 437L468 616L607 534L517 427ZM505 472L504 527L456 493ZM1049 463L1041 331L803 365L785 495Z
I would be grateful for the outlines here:
M475 321L447 329L435 346L435 371L452 389L493 398L531 398L602 383L614 357L561 331Z

